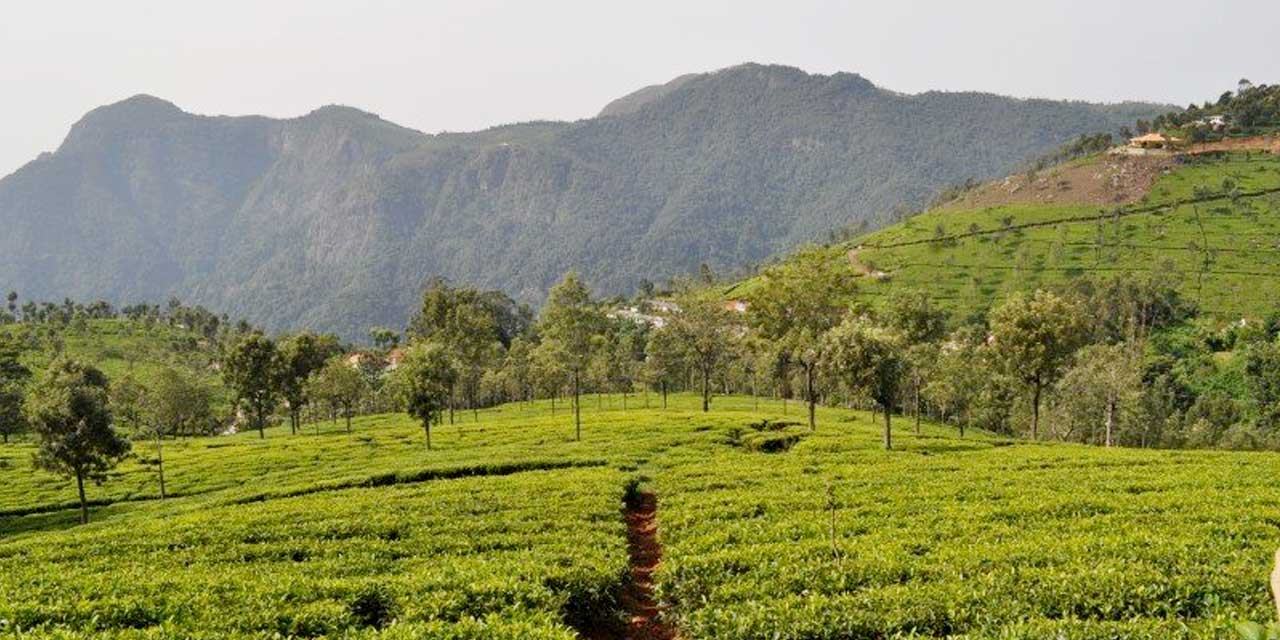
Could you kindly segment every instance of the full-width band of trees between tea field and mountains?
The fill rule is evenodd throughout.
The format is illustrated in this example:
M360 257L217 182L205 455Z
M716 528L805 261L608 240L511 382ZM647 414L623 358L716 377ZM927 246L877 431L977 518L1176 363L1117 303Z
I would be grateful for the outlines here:
M500 293L435 280L403 337L374 329L375 347L351 353L333 335L230 333L220 371L236 424L260 436L278 416L297 434L308 416L316 428L346 417L349 430L357 412L399 410L430 448L433 428L460 408L549 398L554 412L567 397L581 438L585 394L602 404L621 394L626 410L632 393L648 406L653 390L666 407L668 392L696 390L704 411L718 393L773 397L783 411L800 399L809 429L819 404L869 408L887 449L895 413L960 436L980 428L1100 445L1280 445L1280 319L1213 329L1156 279L1012 293L966 319L914 291L873 307L855 283L844 262L804 251L765 270L746 301L685 282L663 300L646 288L636 315L570 273L534 317ZM1224 352L1238 364L1225 374L1215 369ZM189 372L109 381L59 356L33 375L20 356L20 343L0 339L0 431L29 429L35 463L74 477L82 509L84 481L129 451L116 428L154 442L164 497L164 438L216 424L210 389Z

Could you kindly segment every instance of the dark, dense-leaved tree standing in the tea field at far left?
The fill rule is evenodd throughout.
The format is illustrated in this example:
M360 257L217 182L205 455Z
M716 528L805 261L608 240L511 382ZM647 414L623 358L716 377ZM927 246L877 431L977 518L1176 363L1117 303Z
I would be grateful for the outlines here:
M76 360L50 364L26 403L38 438L36 467L76 479L81 524L88 524L84 481L101 484L129 452L129 442L111 429L108 380Z

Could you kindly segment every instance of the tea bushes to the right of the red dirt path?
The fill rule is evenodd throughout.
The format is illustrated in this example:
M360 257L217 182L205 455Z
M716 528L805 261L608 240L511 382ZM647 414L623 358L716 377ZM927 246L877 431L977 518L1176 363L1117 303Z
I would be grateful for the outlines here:
M655 481L685 637L1234 637L1274 616L1274 456L847 431Z

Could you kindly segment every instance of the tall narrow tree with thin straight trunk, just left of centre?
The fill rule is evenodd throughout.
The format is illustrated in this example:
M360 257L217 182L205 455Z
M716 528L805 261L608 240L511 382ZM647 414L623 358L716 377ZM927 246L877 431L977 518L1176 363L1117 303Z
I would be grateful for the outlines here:
M591 357L591 338L604 325L604 316L591 303L591 292L573 271L552 287L539 323L543 342L563 355L573 387L573 438L582 439L582 374Z

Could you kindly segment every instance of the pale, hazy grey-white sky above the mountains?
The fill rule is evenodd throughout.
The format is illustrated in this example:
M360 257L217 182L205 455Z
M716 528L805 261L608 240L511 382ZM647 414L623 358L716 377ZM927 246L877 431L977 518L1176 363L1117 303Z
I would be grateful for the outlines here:
M902 92L1185 105L1280 82L1280 1L5 0L0 175L136 93L200 114L344 104L424 132L589 118L744 61Z

